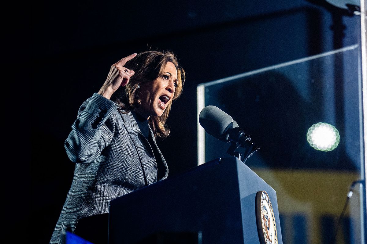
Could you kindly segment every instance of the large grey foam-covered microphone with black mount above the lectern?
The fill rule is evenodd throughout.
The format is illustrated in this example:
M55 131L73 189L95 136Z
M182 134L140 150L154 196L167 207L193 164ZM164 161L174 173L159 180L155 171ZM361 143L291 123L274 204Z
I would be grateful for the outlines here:
M199 123L209 135L221 141L233 141L241 145L248 144L251 141L250 136L239 128L236 121L216 106L206 106L201 110Z

